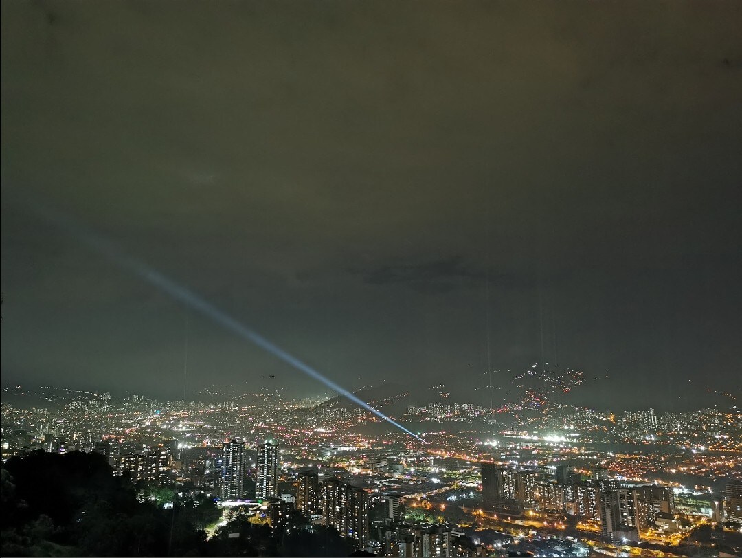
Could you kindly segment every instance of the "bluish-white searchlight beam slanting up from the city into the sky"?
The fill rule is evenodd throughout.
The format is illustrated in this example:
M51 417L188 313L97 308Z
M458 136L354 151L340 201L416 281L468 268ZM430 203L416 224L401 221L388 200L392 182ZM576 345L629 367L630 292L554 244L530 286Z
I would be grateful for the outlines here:
M136 258L129 255L125 255L114 245L114 243L111 243L109 240L100 237L98 234L95 234L94 232L81 226L79 223L74 222L69 217L59 214L56 211L39 208L37 206L36 212L42 214L47 220L52 221L56 225L62 226L62 228L70 232L73 237L81 240L82 243L93 249L95 252L98 252L100 255L104 256L106 259L115 263L122 269L134 273L134 275L137 275L139 278L145 280L147 283L155 286L161 292L164 292L166 295L170 296L174 300L183 303L185 304L185 306L188 306L191 309L194 309L200 314L206 316L207 318L210 318L211 321L216 322L224 329L228 329L239 337L252 342L261 349L271 353L275 357L278 357L286 364L290 364L296 370L300 370L311 378L315 378L315 380L326 385L336 393L343 395L345 398L348 398L353 403L360 405L366 410L369 410L375 416L378 416L379 419L383 419L384 421L393 424L393 426L409 434L410 436L413 436L421 442L425 442L424 439L422 439L417 434L411 432L410 430L407 430L407 428L405 428L398 422L393 421L393 419L390 419L388 416L384 415L384 413L381 413L381 411L371 407L370 404L368 404L366 401L363 401L361 398L358 397L358 395L355 395L354 393L346 390L344 387L335 384L334 381L326 378L320 372L310 367L309 364L304 363L303 361L296 358L294 355L291 355L289 352L286 352L278 347L278 345L275 345L271 341L268 341L266 338L263 337L263 335L260 335L259 333L255 332L255 330L250 329L248 326L242 324L236 318L232 318L231 315L223 312L223 310L218 309L216 306L209 303L209 301L206 301L205 298L197 295L197 293L176 283L174 280L171 280L165 275L162 275L162 273L158 272L151 266L148 266L146 263L137 260Z

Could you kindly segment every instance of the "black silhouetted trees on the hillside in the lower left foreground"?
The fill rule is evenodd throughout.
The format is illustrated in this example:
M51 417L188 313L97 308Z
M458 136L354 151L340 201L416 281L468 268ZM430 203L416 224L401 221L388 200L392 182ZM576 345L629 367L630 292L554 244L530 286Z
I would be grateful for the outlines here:
M207 540L206 526L220 517L212 499L157 488L154 499L139 502L128 479L114 476L97 453L28 453L9 459L0 475L4 557L347 556L354 550L332 529L295 525L276 533L244 517ZM164 493L173 509L162 509Z

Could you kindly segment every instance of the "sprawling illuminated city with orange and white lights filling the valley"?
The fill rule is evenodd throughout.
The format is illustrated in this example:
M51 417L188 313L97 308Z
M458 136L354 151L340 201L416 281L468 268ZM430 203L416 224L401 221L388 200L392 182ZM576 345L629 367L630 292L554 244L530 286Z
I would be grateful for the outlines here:
M404 393L372 401L403 410L393 419L421 442L374 433L380 419L343 398L158 401L22 386L4 394L47 402L3 402L4 461L38 450L102 453L140 497L172 486L214 497L218 525L244 517L289 531L296 510L305 528L330 526L373 554L686 556L694 544L734 548L742 528L734 404L616 413L545 399L510 413L522 402L407 405ZM693 542L710 525L722 538Z

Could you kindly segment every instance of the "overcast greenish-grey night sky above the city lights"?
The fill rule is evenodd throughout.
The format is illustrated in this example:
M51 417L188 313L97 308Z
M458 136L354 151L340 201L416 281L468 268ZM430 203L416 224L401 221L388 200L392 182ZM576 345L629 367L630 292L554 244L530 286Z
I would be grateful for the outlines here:
M3 381L326 391L45 208L350 389L739 389L742 3L0 6Z

